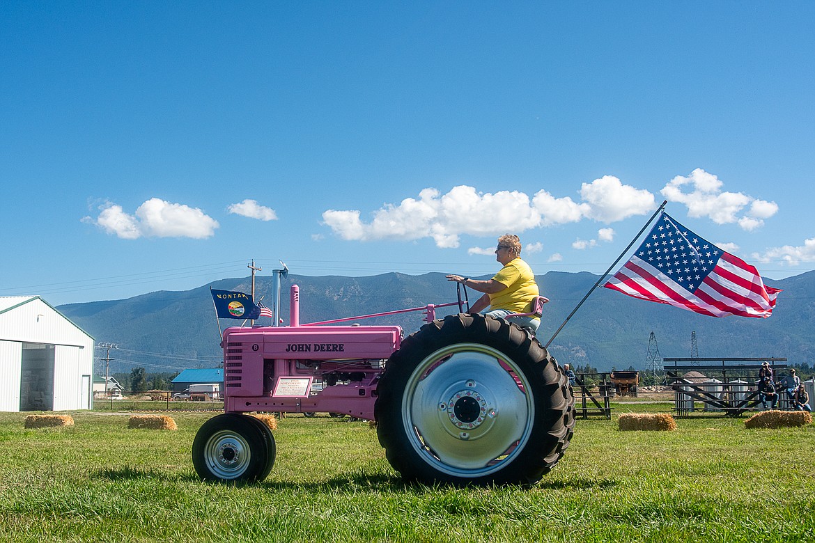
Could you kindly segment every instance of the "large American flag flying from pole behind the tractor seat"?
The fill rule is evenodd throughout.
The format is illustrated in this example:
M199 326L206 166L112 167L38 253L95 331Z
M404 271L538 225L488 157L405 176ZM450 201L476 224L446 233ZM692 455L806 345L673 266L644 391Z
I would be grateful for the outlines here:
M605 287L711 317L769 317L781 292L764 286L756 268L665 212Z

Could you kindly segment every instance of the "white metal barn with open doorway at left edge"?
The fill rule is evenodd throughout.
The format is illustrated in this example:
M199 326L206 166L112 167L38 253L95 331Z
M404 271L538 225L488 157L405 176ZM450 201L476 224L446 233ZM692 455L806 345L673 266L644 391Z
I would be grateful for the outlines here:
M0 296L0 411L93 405L94 339L39 296Z

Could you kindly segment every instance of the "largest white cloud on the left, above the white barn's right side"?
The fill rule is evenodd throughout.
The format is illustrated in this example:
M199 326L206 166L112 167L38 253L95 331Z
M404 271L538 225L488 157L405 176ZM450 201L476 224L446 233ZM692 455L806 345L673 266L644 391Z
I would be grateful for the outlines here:
M121 239L153 238L193 238L205 239L215 234L218 221L198 208L184 204L171 204L165 200L152 198L141 204L134 215L126 213L120 205L103 204L97 219L85 217L86 222L95 223Z

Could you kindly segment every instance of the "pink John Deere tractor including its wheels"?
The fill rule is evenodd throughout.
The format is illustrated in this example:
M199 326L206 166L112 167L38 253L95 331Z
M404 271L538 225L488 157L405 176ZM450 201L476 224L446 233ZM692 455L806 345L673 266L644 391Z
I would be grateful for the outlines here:
M285 271L273 275L275 323ZM289 326L223 331L225 413L196 434L196 472L204 480L263 480L275 439L245 413L320 412L376 421L385 456L407 481L536 483L571 440L568 379L511 316L464 313L458 302L461 313L435 318L435 309L455 304L300 324L293 285ZM407 337L400 326L342 324L419 310L427 324Z

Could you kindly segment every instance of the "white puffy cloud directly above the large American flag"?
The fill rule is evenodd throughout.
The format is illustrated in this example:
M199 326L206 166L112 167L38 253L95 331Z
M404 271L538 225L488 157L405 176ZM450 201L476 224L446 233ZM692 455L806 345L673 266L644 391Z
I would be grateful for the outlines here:
M708 217L716 224L738 224L743 230L755 230L764 219L778 212L775 202L754 199L740 192L721 192L718 177L697 168L688 177L676 176L663 187L669 202L685 204L689 217ZM689 189L685 191L685 189ZM744 211L747 206L747 212Z

